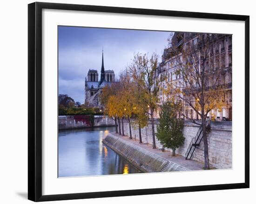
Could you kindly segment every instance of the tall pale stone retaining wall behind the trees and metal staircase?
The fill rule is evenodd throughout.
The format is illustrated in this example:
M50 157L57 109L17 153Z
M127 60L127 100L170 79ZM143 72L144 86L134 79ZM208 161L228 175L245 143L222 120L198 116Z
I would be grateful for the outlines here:
M158 121L155 120L155 132L157 132L157 124ZM192 138L195 137L198 129L198 125L189 121L184 121L183 136L185 137L185 140L184 144L176 149L176 154L185 157L189 144ZM129 125L127 120L124 120L124 134L129 136ZM132 125L132 137L139 139L139 130L134 125ZM216 169L232 168L232 122L211 122L211 128L207 137L210 166ZM153 144L151 123L149 123L147 127L141 128L141 138L143 143ZM157 148L162 148L160 141L156 137L155 143ZM170 149L166 150L172 151ZM201 144L196 147L192 159L204 163L203 140L201 141Z

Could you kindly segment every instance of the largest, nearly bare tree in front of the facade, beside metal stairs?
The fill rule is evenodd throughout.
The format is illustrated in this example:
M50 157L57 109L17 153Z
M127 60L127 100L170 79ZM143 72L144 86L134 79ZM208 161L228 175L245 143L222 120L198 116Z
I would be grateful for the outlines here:
M209 169L208 141L207 141L207 115L212 109L221 108L225 86L221 83L222 69L216 63L218 60L213 55L214 42L212 38L200 33L178 33L181 37L169 40L171 69L176 80L166 81L168 88L166 94L175 100L181 101L184 118L202 126L204 144L205 169ZM189 35L189 36L184 36ZM180 40L175 41L175 39ZM188 114L188 108L196 113L201 122L193 114ZM192 112L193 112L192 111Z

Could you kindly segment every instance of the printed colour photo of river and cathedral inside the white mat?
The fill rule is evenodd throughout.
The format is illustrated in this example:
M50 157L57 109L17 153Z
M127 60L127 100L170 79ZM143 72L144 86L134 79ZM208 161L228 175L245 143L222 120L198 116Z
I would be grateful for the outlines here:
M232 33L57 30L58 178L232 169Z

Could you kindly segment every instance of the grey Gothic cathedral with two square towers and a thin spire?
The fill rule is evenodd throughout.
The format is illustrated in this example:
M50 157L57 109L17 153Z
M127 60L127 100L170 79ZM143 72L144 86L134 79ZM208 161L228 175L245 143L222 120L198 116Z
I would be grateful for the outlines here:
M102 61L101 61L101 79L98 80L98 71L89 69L87 78L85 78L85 104L93 107L100 107L100 93L102 88L106 85L111 85L115 82L115 72L113 70L106 70L104 68L104 56L102 50Z

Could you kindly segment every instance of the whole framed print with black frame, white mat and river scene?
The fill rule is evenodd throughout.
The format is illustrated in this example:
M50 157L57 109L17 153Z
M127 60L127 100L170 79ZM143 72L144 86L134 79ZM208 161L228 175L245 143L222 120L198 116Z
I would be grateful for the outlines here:
M28 124L33 201L249 188L249 16L29 4Z

